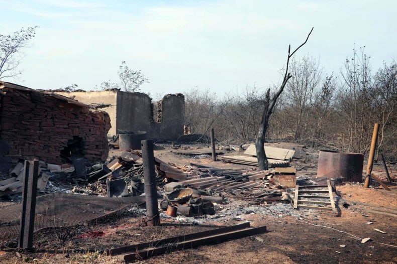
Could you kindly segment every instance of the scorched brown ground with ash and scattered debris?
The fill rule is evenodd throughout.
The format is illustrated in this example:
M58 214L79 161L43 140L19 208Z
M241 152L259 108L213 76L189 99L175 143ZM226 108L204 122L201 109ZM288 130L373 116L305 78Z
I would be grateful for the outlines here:
M291 166L298 169L303 168L298 171L298 178L305 179L315 176L317 151L304 149L299 145L279 144L277 146L295 148L295 156L299 159L294 159ZM246 167L212 162L210 158L205 157L193 159L188 156L175 155L170 153L169 145L158 145L156 149L157 157L163 161L180 165L193 162L214 167ZM115 153L117 151L111 152L110 155ZM238 153L236 152L236 154ZM390 169L392 178L396 179L396 168ZM380 165L374 166L374 174L384 178ZM242 208L241 215L239 215L241 219L250 220L251 226L266 225L267 232L220 244L204 245L175 251L171 254L153 256L138 262L396 263L397 223L395 217L371 213L372 207L359 203L397 208L397 187L390 186L391 191L386 191L379 186L372 187L364 189L361 184L357 183L337 186L339 216L306 209L292 210L291 213L290 210L283 210L285 206L291 206L290 204L266 205L263 202L258 204L232 198L228 205L223 206L224 211L217 212L217 214L224 214L225 210L240 206ZM264 211L266 208L278 207L280 210L272 210L270 213ZM249 210L249 208L258 208L258 210ZM36 252L0 251L0 262L122 263L124 261L120 256L106 256L103 253L104 250L241 222L220 217L201 218L197 220L202 223L191 224L185 222L183 218L178 218L179 220L162 218L162 226L140 226L144 214L143 209L132 208L129 211L119 212L74 228L43 232L35 236ZM372 224L367 224L367 222L372 222ZM385 233L377 232L374 228ZM371 240L361 243L361 238L365 237L370 237Z

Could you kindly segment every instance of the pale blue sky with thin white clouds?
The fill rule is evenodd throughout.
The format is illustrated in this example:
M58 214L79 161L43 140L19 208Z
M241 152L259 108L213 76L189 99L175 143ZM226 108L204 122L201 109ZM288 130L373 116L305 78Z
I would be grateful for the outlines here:
M71 84L93 90L118 81L122 61L150 83L142 92L218 95L281 81L288 44L296 59L339 73L365 46L376 71L397 59L397 1L88 1L0 0L0 34L38 26L24 50L22 75L6 81L34 89ZM295 55L294 55L295 56Z

